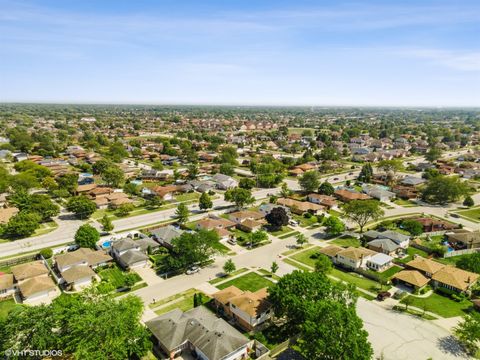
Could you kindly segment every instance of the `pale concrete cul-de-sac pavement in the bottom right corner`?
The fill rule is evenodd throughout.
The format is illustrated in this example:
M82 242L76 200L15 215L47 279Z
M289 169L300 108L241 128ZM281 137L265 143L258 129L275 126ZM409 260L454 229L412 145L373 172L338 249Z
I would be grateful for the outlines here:
M383 359L469 359L455 338L433 321L384 309L359 298L357 313L375 351Z

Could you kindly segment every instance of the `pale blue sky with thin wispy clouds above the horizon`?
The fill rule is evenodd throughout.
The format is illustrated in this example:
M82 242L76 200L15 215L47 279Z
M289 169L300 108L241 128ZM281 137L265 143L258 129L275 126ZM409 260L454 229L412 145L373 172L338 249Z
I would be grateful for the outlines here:
M480 106L480 2L0 0L6 101Z

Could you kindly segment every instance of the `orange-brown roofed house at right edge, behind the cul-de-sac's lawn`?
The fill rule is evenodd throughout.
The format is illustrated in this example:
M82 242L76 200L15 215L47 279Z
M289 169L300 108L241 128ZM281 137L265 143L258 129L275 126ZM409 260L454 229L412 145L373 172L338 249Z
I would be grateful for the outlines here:
M467 293L476 284L479 276L476 273L448 265L436 271L432 275L432 281L435 287Z

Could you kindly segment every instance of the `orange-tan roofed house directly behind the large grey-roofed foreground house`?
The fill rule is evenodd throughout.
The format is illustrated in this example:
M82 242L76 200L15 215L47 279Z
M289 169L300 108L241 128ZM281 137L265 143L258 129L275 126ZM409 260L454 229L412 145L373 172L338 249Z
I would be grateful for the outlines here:
M251 292L233 285L213 294L217 309L248 331L270 319L271 304L267 296L266 288Z

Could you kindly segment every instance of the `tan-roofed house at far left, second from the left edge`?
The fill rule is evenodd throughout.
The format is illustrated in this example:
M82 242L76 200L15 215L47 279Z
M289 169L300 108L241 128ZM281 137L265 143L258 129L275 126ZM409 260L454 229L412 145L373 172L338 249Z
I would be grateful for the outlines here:
M48 302L59 295L43 260L16 265L11 268L16 287L26 303Z

